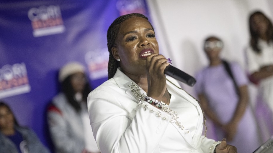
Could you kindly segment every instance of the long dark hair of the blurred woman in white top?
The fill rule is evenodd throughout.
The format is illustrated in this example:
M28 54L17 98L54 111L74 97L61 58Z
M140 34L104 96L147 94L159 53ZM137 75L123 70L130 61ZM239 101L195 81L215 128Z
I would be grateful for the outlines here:
M265 14L263 14L261 11L255 11L249 17L249 30L250 30L250 35L251 35L250 45L256 53L260 53L261 49L258 47L259 34L252 27L252 20L253 20L254 16L256 16L256 15L263 16L264 19L268 22L268 26L267 26L267 39L268 40L267 41L273 40L273 26L272 26L272 22L269 20L269 18L267 16L265 16Z

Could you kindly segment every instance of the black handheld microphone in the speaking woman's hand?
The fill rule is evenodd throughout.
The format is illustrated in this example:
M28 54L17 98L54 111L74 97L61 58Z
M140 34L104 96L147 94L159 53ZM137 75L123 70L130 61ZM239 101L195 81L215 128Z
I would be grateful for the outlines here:
M168 65L166 67L166 69L164 70L164 73L189 86L193 86L196 83L196 80L194 79L194 77L190 76L189 74L171 65Z

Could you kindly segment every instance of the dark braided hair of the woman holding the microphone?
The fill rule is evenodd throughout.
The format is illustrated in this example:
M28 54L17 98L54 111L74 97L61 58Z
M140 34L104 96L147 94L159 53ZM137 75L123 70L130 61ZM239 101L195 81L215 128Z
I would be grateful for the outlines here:
M108 51L109 51L108 79L111 79L112 77L114 77L114 75L117 71L117 68L120 67L120 63L117 60L115 60L115 58L112 54L112 47L115 45L115 40L117 38L117 33L120 28L120 24L132 17L142 17L142 18L148 20L148 18L146 16L144 16L143 14L139 14L139 13L126 14L126 15L122 15L122 16L118 17L117 19L115 19L107 30L107 47L108 47ZM153 26L152 26L152 29L153 29Z

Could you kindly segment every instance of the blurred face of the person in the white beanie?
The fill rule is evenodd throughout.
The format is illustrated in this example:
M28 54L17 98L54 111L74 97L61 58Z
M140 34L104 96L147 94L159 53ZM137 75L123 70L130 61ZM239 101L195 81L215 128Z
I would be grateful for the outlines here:
M71 84L75 92L83 92L86 84L85 75L81 72L71 75Z

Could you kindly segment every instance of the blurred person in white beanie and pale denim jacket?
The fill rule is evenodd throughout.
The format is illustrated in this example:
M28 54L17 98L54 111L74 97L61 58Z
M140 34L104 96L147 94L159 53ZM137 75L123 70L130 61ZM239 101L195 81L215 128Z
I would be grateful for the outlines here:
M56 153L97 153L87 113L91 91L85 68L78 62L65 64L59 71L61 92L48 107L48 126Z

